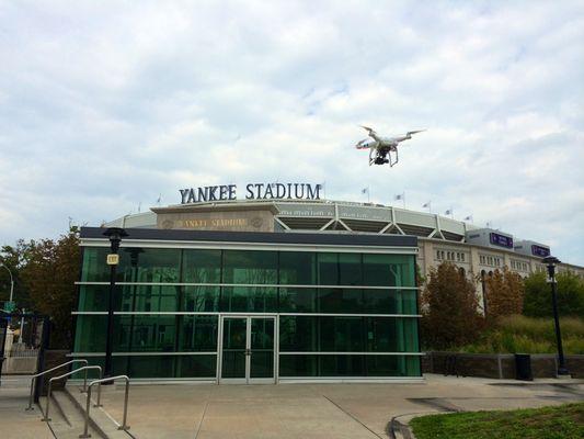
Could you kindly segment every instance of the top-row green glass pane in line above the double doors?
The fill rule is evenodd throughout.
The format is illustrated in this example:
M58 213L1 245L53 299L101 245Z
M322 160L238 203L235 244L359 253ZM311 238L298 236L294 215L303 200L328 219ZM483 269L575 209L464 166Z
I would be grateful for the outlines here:
M276 251L224 251L224 283L276 284Z

